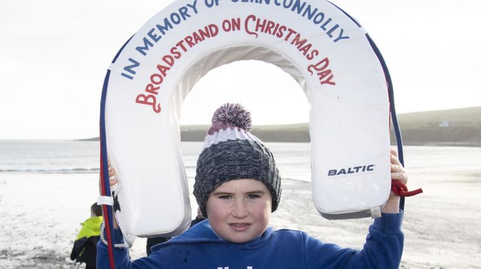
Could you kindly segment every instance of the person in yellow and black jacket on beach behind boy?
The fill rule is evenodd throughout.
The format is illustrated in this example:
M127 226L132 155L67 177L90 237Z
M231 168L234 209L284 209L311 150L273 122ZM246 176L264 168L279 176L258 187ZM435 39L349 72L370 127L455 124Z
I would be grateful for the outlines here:
M102 207L94 203L90 207L90 218L82 223L82 229L74 242L70 259L76 263L85 263L86 269L96 268L97 243L100 240L100 224L102 224Z

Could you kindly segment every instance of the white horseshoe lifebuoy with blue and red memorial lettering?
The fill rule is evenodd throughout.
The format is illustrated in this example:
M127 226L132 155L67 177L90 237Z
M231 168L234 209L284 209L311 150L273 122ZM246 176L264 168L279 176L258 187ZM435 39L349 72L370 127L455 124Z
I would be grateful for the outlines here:
M309 99L318 211L379 213L390 189L388 86L359 23L328 1L178 0L128 40L105 80L103 144L122 183L126 232L175 235L188 225L181 105L203 75L236 60L280 67Z

